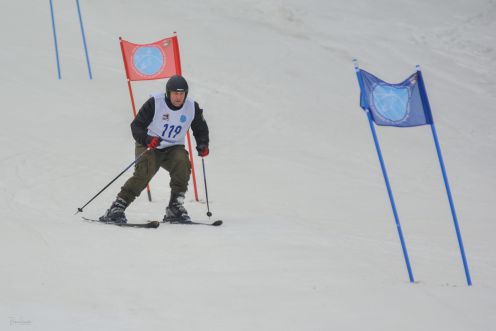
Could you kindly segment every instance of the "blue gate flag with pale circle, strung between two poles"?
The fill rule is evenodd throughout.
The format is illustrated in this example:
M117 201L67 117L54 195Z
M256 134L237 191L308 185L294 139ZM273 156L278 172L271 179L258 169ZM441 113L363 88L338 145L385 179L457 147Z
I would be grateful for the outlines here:
M359 69L363 86L360 107L370 110L377 125L411 127L432 124L424 85L419 72L399 84L389 84Z

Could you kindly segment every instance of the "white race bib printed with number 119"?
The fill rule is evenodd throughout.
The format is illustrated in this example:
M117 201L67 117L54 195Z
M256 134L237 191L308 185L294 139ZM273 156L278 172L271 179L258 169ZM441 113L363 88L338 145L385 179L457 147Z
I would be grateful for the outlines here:
M165 102L165 94L152 95L155 99L155 115L148 125L148 135L160 137L158 149L184 145L184 137L195 118L195 102L186 98L181 109L172 110Z

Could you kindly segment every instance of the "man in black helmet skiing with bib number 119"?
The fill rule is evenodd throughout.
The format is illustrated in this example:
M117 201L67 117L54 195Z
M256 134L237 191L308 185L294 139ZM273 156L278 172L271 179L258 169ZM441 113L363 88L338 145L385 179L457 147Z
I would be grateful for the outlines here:
M184 148L186 132L191 127L196 140L198 155L209 154L209 131L203 117L203 109L188 97L188 83L182 76L171 77L166 91L153 95L143 104L131 123L136 140L136 157L148 151L136 163L129 178L102 222L127 223L125 209L145 189L160 167L170 174L171 195L166 207L164 222L182 223L190 221L184 208L184 197L191 175L188 152Z

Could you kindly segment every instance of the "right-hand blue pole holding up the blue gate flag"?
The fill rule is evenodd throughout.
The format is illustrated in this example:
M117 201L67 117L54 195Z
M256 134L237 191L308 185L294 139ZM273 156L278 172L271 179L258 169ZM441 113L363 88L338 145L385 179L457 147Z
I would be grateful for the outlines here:
M458 217L456 216L455 203L453 202L453 196L451 195L451 189L448 182L448 175L446 174L446 167L444 166L443 155L441 153L441 147L439 146L439 139L437 137L436 126L434 125L434 119L432 118L429 98L427 97L427 90L425 89L422 72L420 71L420 66L418 65L417 65L417 72L418 72L420 97L422 98L422 103L424 104L424 107L428 110L429 116L431 116L432 137L434 138L434 144L436 145L436 152L437 152L437 157L439 159L439 165L441 167L441 172L443 173L444 186L446 187L446 193L448 195L451 215L453 216L453 223L455 226L456 237L458 239L458 246L460 246L460 254L462 256L463 268L465 269L465 277L467 278L467 285L472 286L472 279L470 277L470 271L468 269L467 257L465 256L465 248L463 247L463 240L460 232L460 226L458 225Z

